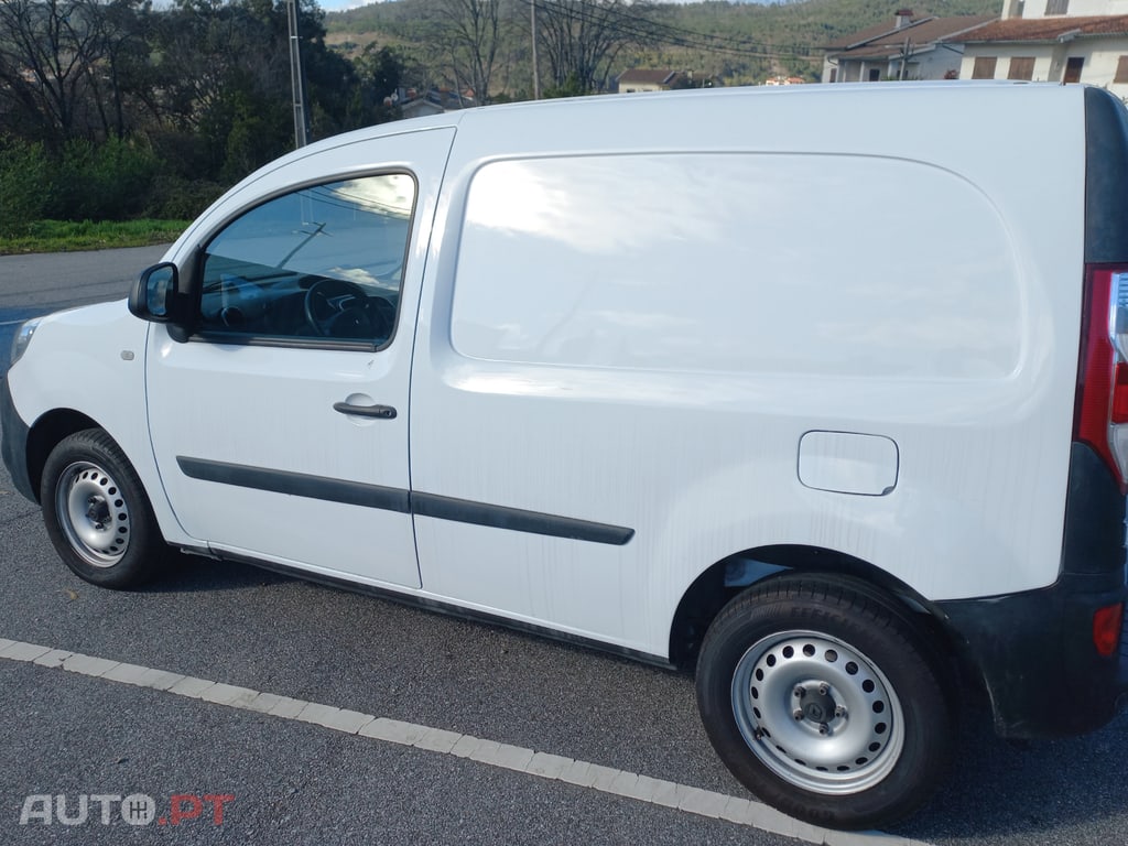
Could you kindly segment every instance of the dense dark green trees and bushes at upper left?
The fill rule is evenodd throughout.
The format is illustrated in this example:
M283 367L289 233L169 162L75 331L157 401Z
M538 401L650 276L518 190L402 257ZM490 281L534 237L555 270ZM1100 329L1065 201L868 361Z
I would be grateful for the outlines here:
M389 120L393 51L346 59L302 0L312 138ZM194 217L293 147L284 1L0 0L0 235Z

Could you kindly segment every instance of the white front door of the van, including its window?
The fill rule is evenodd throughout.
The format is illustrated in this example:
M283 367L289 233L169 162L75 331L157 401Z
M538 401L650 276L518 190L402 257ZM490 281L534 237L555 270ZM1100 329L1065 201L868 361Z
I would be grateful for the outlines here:
M408 382L450 134L372 143L395 164L248 199L206 237L191 340L150 332L149 425L193 538L417 588Z

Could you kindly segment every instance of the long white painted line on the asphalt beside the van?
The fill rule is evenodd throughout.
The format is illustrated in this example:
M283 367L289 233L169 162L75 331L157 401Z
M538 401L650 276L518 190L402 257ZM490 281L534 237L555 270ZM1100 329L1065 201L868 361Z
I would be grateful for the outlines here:
M191 699L254 711L282 720L305 723L372 738L387 743L411 746L440 755L468 758L491 767L512 769L538 778L559 781L580 787L623 796L638 802L673 808L687 813L751 826L769 834L793 837L820 846L927 846L882 831L835 831L819 828L749 799L651 778L638 773L605 767L559 755L483 740L429 725L362 714L316 702L253 690L193 676L182 676L150 667L123 663L67 650L39 646L0 637L0 659L23 661L46 669L62 669L82 676L148 687Z

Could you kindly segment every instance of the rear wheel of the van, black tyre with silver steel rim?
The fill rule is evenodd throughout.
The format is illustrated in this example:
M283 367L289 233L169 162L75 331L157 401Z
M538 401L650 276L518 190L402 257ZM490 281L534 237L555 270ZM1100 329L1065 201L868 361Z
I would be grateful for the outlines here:
M853 579L788 574L717 615L697 663L713 747L768 804L828 828L889 826L944 774L954 673L907 610Z

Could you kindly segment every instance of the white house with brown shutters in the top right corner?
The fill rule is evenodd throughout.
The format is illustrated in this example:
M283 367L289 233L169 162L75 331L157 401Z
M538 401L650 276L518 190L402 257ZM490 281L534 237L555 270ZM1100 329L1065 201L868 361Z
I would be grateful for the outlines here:
M1089 82L1128 99L1128 0L1004 0L959 36L961 79Z

